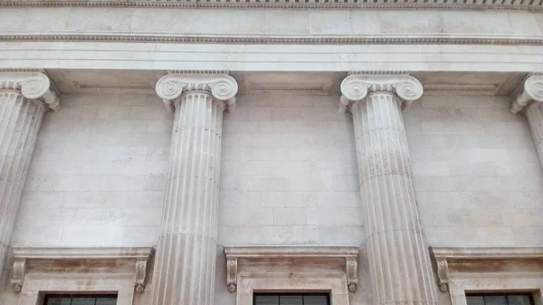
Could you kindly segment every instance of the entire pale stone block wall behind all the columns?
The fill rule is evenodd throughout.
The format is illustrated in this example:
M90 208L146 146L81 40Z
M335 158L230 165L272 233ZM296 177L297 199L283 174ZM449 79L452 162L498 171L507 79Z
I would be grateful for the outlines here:
M61 100L43 120L13 244L156 245L171 114L154 94ZM363 245L352 119L337 106L242 95L224 114L215 304L235 299L224 245ZM543 245L543 171L526 118L509 107L505 97L424 96L404 112L430 245ZM353 305L370 300L366 264L362 252Z

